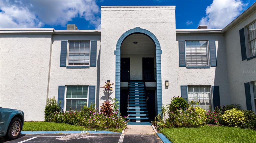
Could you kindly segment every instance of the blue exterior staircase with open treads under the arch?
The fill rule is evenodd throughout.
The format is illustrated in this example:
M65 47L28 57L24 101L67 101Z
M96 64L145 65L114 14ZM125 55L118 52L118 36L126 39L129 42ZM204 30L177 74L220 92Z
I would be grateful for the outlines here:
M127 113L129 117L127 119L136 120L136 122L140 122L141 120L147 120L148 111L145 94L145 82L130 81L128 85L128 90L129 95L127 100Z

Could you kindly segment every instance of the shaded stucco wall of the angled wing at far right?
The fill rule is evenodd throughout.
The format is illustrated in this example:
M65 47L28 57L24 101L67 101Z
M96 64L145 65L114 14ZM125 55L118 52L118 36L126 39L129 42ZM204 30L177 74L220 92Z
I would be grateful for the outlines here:
M248 24L253 22L255 18L256 12L249 15L225 34L231 104L240 104L242 109L246 109L244 83L256 81L256 58L242 61L239 30L248 26ZM245 35L247 36L247 34ZM247 39L248 38L246 37L246 41ZM247 52L249 52L248 41L246 48ZM247 54L247 58L249 57L249 54ZM250 88L251 95L253 95L252 84L250 85Z

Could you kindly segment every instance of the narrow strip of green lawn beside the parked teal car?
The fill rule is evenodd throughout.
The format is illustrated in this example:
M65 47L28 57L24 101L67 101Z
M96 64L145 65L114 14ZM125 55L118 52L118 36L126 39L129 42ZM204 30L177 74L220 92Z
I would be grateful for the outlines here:
M106 130L112 132L122 132L123 128L89 128L84 126L70 125L65 123L31 121L24 122L22 131L92 131L92 130Z

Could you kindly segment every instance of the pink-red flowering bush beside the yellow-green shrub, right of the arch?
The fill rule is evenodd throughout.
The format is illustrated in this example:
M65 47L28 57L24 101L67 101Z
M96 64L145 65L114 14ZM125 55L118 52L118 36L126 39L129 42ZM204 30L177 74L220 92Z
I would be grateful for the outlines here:
M221 111L215 110L215 111L211 111L209 110L206 113L206 123L207 124L215 124L215 125L219 125L222 121L222 114Z

